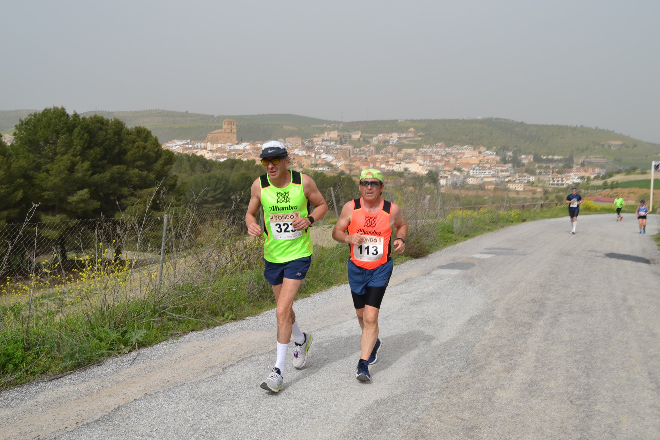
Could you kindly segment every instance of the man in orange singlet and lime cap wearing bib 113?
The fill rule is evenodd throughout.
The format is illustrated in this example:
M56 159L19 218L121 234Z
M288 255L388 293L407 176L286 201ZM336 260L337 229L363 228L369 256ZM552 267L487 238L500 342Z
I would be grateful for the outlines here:
M362 197L344 205L332 233L333 239L350 247L348 284L362 328L355 375L359 381L371 380L369 365L378 361L383 346L378 338L378 312L392 274L390 255L392 250L403 253L408 234L399 205L381 198L384 188L380 171L372 168L360 173ZM390 241L393 230L396 238Z

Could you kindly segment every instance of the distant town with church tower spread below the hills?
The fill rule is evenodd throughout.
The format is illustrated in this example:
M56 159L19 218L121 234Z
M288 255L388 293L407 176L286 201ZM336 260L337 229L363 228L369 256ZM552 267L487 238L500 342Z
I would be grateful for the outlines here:
M237 142L234 119L225 119L222 126L209 133L204 141L174 139L162 144L162 148L210 160L240 159L259 163L263 142ZM416 133L413 127L404 133L378 133L368 137L360 131L329 130L310 139L287 137L278 141L286 145L293 168L349 175L356 175L364 168L422 175L433 171L438 173L442 186L477 185L490 189L497 183L504 183L514 191L525 191L532 189L530 186L566 187L591 180L604 171L599 166L564 168L564 158L559 156L543 156L552 164L537 164L537 168L530 169L526 165L533 161L531 155L521 155L515 160L519 163L514 164L512 152L500 157L480 145L447 146L438 142L421 148L406 148L407 141L418 141L422 135L424 133ZM364 144L354 146L355 142L348 143L347 139Z

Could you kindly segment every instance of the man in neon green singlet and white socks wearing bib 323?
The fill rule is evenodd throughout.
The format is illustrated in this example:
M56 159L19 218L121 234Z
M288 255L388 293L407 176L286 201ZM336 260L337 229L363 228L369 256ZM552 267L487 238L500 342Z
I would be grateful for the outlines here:
M286 169L289 157L282 142L266 142L259 157L266 173L252 184L246 225L249 235L261 235L257 224L261 209L266 234L263 276L273 287L277 303L277 360L260 387L277 393L282 389L291 336L296 368L304 367L312 344L312 336L298 327L293 301L312 261L309 228L325 216L328 206L310 176Z

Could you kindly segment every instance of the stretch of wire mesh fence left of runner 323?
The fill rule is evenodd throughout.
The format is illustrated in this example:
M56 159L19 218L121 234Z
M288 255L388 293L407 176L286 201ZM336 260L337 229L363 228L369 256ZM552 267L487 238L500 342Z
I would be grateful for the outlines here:
M0 277L35 276L55 264L64 274L86 265L154 265L199 247L220 223L224 231L220 236L227 232L236 236L244 229L243 219L244 212L238 209L181 209L160 216L4 224L0 225Z

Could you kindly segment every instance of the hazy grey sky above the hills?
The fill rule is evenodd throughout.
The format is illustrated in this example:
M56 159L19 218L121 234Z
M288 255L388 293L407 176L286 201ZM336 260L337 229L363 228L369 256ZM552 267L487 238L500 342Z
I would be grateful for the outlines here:
M508 117L660 142L660 1L0 1L0 110Z

